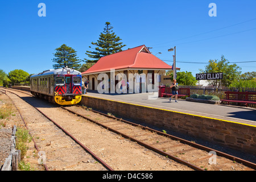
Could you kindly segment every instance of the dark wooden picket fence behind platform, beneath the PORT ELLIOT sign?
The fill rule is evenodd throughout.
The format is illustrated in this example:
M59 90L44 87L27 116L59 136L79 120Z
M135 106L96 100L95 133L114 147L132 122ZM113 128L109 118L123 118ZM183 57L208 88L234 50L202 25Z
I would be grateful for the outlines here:
M209 96L218 96L220 99L225 98L226 91L235 91L235 92L256 92L256 88L235 88L235 87L213 87L213 86L185 86L180 85L181 88L189 88L190 95L199 94L199 95L209 95Z

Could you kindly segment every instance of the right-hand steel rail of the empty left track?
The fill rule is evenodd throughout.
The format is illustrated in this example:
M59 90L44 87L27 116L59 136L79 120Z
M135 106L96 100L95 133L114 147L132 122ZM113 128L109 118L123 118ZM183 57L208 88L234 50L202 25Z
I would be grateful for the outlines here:
M8 90L7 90L8 91ZM10 92L10 91L8 91ZM11 92L13 93L13 92ZM15 94L15 93L13 93ZM26 93L25 93L26 94ZM15 94L16 96L18 96L18 94ZM19 96L18 96L19 97ZM25 102L27 102L26 100L24 100ZM28 102L27 102L28 103ZM28 103L30 104L30 103ZM31 104L30 104L31 105ZM31 105L32 106L32 105ZM38 109L37 107L33 106L36 110L38 110L41 114L44 115L44 117L46 117L47 119L49 119L49 121L53 122L57 127L59 127L59 129L61 129L66 135L68 135L69 137L71 137L77 144L79 144L82 148L84 148L85 151L87 151L90 155L93 156L94 159L96 159L98 162L100 162L102 164L102 166L106 167L107 169L109 169L109 171L114 171L114 169L112 167L110 167L107 163L105 163L103 160L101 160L100 158L98 158L98 156L96 154L94 154L92 151L89 150L89 148L87 148L86 146L84 146L84 144L82 144L79 140L77 140L75 137L73 137L73 135L71 135L70 133L68 133L67 130L65 130L63 127L61 127L60 125L58 125L55 121L53 121L51 118L49 118L46 114L43 113L43 111L41 111L40 109Z

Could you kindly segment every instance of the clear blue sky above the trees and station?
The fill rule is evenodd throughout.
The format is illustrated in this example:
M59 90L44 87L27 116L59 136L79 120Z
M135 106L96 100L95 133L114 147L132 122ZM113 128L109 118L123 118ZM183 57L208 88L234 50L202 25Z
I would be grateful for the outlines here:
M46 17L39 17L39 3ZM210 17L210 3L217 16ZM0 69L38 73L52 69L55 48L74 48L84 60L105 22L127 48L141 45L172 65L170 47L176 46L176 66L195 76L210 59L224 55L242 72L256 70L256 1L82 1L9 0L0 4ZM181 63L189 62L189 63ZM81 62L84 63L84 62ZM201 64L197 64L201 63Z

